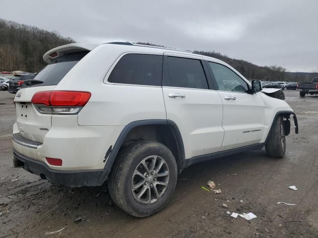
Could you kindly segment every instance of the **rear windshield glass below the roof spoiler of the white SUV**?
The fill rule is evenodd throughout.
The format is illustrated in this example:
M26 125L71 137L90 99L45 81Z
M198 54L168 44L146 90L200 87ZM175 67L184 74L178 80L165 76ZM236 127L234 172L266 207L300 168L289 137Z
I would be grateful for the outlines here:
M88 51L71 53L50 62L34 77L34 79L41 80L43 83L30 84L28 87L57 85L87 53Z

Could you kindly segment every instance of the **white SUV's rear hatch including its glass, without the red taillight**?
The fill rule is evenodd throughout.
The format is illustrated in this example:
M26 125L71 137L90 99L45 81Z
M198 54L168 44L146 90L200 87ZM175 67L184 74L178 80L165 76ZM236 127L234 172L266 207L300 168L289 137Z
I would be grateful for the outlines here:
M77 52L63 55L51 61L32 80L27 80L22 89L15 95L16 123L20 135L26 139L43 142L46 133L51 129L52 113L43 113L31 103L34 94L54 90L62 78L88 52Z

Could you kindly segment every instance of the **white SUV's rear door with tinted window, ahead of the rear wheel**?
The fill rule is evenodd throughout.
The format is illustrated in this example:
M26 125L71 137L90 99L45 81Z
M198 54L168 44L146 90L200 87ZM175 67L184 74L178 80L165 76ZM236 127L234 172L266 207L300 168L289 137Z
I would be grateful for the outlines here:
M207 70L198 57L164 54L162 91L166 118L181 133L185 158L220 150L223 105L220 95L207 81Z

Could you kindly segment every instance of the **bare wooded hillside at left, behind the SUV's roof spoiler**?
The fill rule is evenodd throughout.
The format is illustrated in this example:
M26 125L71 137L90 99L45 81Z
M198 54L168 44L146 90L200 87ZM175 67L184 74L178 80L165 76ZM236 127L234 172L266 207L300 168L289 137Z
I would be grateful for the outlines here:
M48 50L75 42L58 32L0 19L0 71L37 72Z

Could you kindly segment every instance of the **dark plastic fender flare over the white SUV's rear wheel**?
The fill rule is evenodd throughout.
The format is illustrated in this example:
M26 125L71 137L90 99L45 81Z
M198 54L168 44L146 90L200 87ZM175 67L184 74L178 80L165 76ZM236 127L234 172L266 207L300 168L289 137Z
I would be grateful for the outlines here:
M178 128L178 126L172 121L172 120L166 120L166 119L148 119L148 120L137 120L137 121L133 121L130 122L129 124L127 124L124 129L121 131L121 133L119 134L113 148L111 148L112 146L109 147L109 149L106 152L105 155L105 167L104 170L110 170L115 162L115 159L118 155L119 149L122 146L122 144L124 143L124 140L126 138L126 136L128 135L128 133L135 127L137 126L141 126L141 125L168 125L172 131L173 134L175 136L175 139L177 141L178 144L178 152L179 152L179 156L180 158L176 158L176 160L184 160L184 145L183 145L183 140L181 137L181 133L180 130Z

